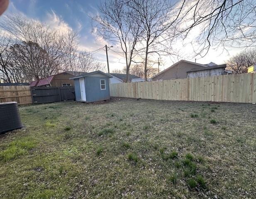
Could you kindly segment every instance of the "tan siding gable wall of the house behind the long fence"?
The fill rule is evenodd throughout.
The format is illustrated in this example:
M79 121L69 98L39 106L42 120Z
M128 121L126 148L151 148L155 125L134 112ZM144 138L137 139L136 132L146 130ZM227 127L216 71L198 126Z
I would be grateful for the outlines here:
M198 66L193 63L181 62L177 65L166 70L162 74L153 77L152 80L172 80L172 79L183 79L187 78L187 72L191 69L201 69L205 68L204 66Z

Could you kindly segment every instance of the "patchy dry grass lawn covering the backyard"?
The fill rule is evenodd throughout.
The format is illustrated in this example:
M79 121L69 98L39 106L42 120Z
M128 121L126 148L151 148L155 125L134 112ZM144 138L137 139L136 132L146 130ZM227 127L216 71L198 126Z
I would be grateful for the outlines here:
M256 198L256 106L120 99L20 107L0 198Z

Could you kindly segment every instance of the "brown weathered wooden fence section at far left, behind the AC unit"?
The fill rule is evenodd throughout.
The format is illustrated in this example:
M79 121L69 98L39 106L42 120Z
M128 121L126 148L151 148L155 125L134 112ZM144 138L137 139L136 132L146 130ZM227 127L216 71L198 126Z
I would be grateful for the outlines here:
M18 104L32 104L29 85L0 86L0 102L17 102Z

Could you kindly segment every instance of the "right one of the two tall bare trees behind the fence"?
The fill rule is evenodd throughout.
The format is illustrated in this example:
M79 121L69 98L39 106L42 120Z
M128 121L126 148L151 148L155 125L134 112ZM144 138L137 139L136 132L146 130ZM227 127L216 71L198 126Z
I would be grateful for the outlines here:
M129 0L127 4L132 9L133 20L140 22L142 31L140 44L145 54L144 77L147 80L150 54L157 53L159 56L175 54L171 46L168 46L170 41L167 39L167 30L175 30L174 22L178 19L180 12L174 12L168 0Z

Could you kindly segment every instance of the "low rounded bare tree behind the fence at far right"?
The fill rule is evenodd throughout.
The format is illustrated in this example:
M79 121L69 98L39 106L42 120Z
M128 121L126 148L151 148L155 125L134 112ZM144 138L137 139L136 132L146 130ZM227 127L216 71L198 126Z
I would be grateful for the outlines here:
M256 64L256 49L248 49L232 56L227 68L234 73L247 73L247 68Z

